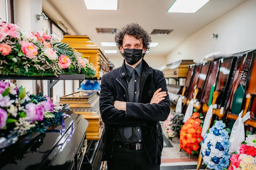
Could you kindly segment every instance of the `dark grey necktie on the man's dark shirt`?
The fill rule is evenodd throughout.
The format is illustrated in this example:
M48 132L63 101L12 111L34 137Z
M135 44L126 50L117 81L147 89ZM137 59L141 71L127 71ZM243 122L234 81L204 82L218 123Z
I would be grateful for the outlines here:
M132 71L132 76L128 83L128 102L134 101L134 83L135 83L135 70ZM128 140L132 137L132 127L124 127L124 137Z

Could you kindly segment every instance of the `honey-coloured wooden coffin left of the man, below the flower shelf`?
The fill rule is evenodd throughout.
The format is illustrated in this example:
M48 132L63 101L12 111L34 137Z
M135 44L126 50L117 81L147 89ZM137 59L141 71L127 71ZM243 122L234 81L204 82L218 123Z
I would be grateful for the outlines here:
M88 140L100 140L103 122L100 117L100 94L96 91L76 92L60 97L61 104L69 104L70 110L89 121L86 129Z

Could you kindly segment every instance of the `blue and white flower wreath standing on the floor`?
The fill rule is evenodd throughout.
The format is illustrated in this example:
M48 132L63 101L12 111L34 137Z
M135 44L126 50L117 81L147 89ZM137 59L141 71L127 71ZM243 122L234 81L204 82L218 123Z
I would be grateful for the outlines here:
M229 165L228 134L231 130L224 129L225 127L222 121L214 121L212 128L208 129L202 141L201 155L204 164L209 169L223 170Z

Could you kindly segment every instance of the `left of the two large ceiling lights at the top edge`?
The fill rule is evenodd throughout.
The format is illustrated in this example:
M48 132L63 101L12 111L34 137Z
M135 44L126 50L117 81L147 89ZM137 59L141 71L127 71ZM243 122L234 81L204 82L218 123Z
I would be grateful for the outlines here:
M84 0L87 10L117 10L118 0Z

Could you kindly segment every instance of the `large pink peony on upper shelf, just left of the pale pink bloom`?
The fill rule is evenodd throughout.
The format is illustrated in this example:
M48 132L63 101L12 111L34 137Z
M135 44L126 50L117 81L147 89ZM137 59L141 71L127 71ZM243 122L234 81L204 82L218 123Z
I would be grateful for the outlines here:
M32 59L38 54L37 47L32 42L20 41L21 50L26 57Z

